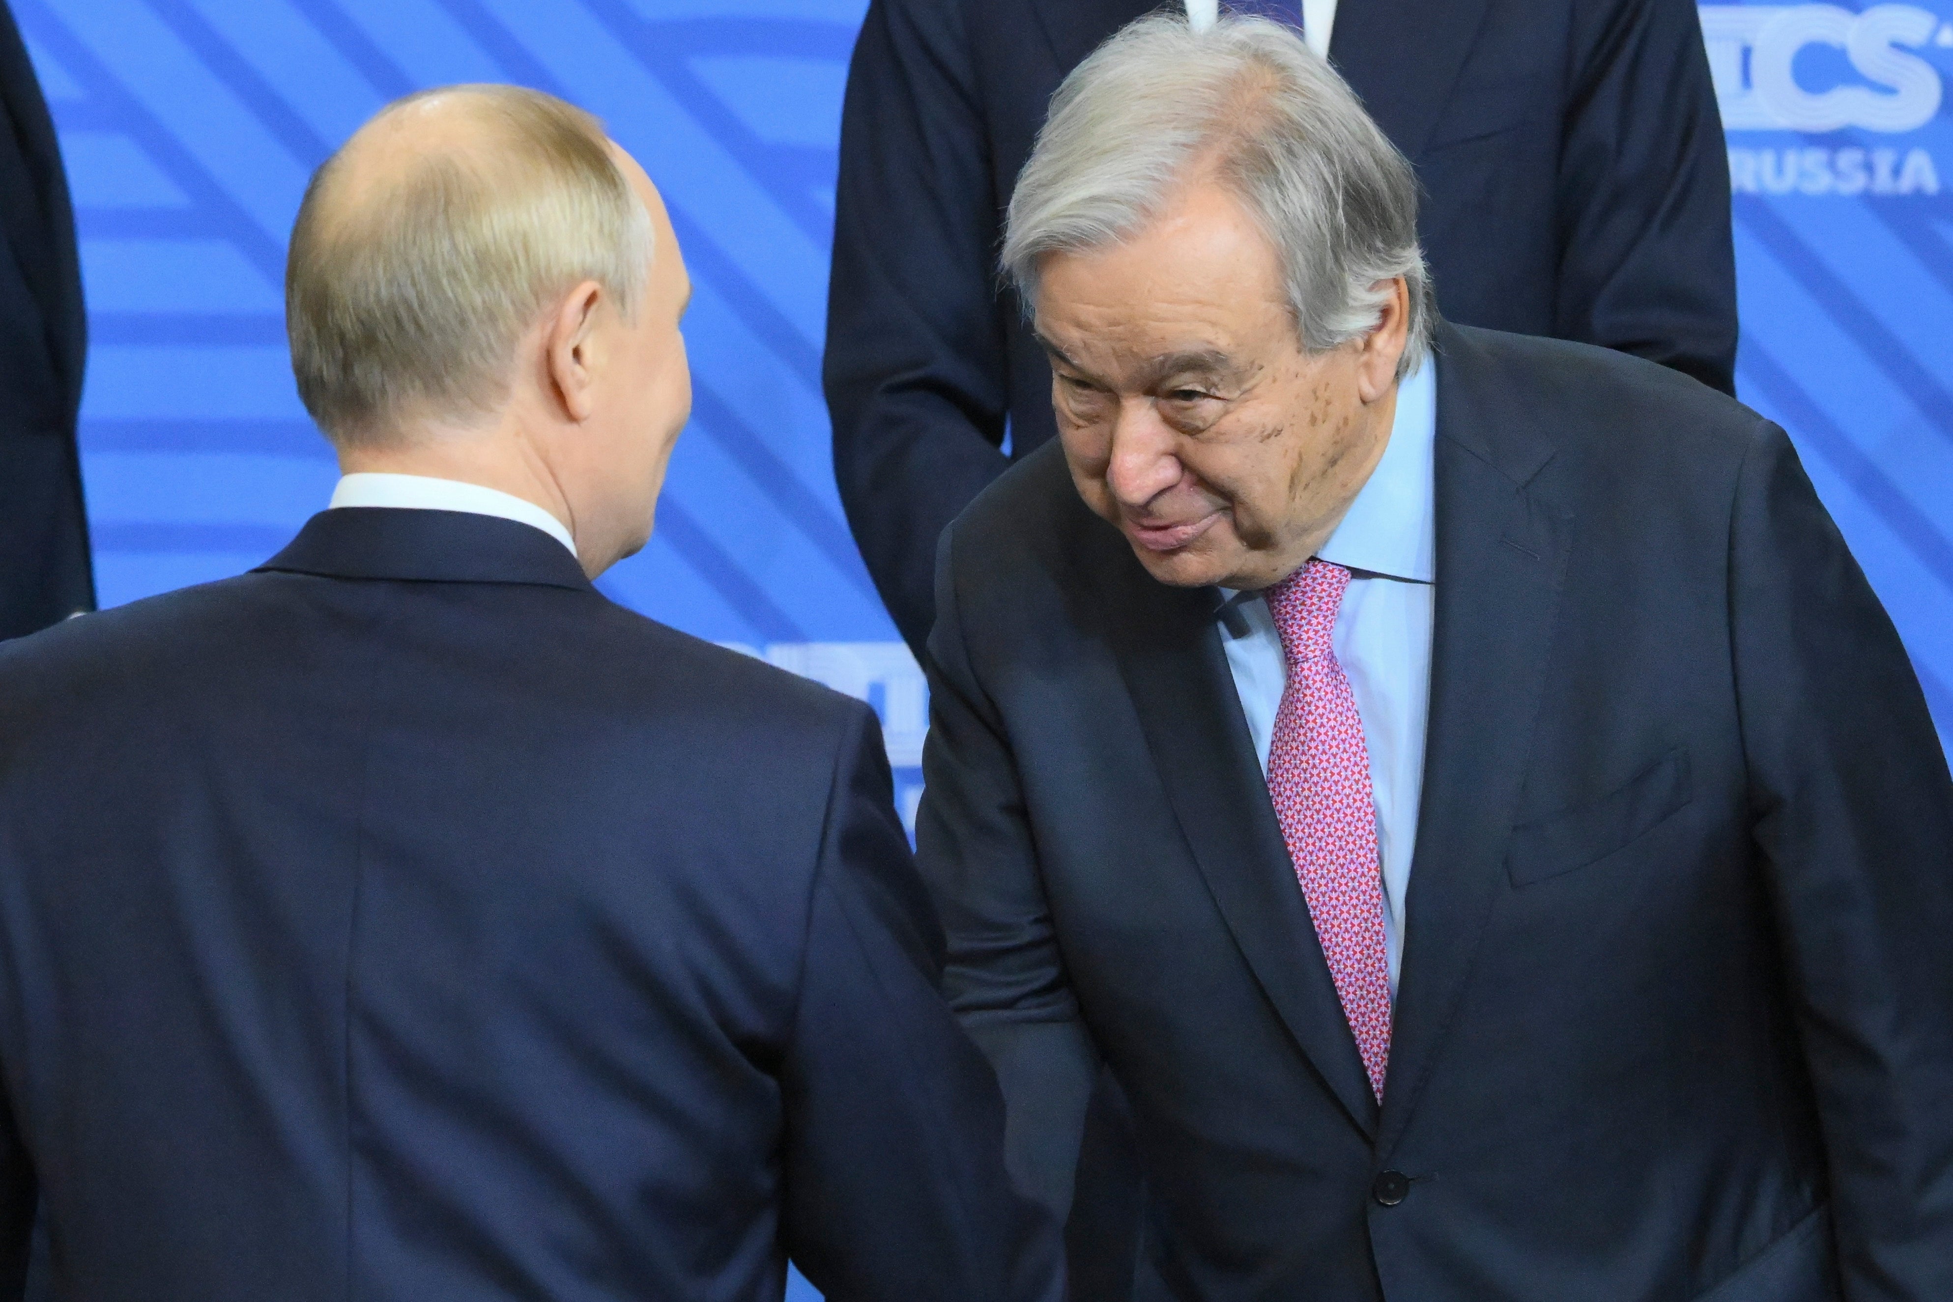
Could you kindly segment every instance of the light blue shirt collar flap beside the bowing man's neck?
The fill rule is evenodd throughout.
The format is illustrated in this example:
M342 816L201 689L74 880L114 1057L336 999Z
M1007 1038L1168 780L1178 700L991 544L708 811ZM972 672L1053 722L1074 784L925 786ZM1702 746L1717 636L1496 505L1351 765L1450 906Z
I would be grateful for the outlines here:
M1416 584L1437 578L1434 457L1437 439L1437 367L1426 361L1396 385L1396 416L1383 459L1355 494L1342 523L1316 556L1346 570L1387 574Z

